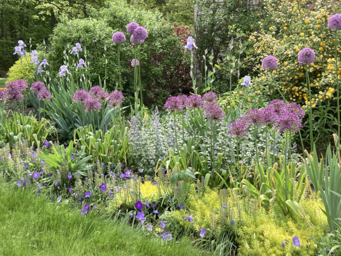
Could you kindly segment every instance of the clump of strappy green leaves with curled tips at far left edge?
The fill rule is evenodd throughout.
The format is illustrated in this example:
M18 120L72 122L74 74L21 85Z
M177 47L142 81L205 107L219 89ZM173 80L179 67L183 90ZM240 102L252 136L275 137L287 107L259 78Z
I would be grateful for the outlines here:
M23 116L13 112L11 115L0 124L0 140L8 142L11 147L16 142L26 141L28 146L41 148L46 139L52 135L57 137L56 128L45 118L37 120L33 115Z

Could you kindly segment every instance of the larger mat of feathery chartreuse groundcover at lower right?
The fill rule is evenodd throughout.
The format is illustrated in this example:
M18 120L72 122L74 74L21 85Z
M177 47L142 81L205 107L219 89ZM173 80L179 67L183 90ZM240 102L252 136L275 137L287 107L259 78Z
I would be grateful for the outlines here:
M284 216L278 205L265 210L257 200L241 197L238 190L197 191L194 186L191 187L186 201L189 211L177 210L169 217L196 232L202 227L206 227L211 234L233 230L239 256L314 255L317 250L314 239L319 239L319 234L327 231L326 217L320 208L323 209L323 205L315 197L301 200L306 219L311 222L309 225L298 217ZM192 222L183 218L189 215L194 219ZM231 223L232 220L235 224ZM299 237L301 247L293 245L294 236Z

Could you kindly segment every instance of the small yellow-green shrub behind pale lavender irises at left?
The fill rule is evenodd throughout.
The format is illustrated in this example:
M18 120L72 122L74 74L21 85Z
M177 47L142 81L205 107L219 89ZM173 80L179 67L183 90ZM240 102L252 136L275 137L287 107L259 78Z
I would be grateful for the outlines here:
M36 70L36 65L34 63L31 64L30 54L26 53L21 60L18 59L9 69L6 82L16 81L18 79L24 79L27 82L27 77L33 80L35 74L34 70Z

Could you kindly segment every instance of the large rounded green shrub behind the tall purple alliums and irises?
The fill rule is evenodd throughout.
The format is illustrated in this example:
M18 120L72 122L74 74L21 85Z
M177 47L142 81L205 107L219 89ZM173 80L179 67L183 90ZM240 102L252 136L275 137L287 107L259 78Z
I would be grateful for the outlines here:
M122 31L126 34L126 42L121 45L120 59L122 70L122 84L124 94L133 97L133 68L131 60L134 58L133 46L130 43L130 35L126 33L128 23L135 21L144 26L148 31L148 38L141 44L141 76L144 95L144 102L153 104L154 99L160 103L160 96L167 97L169 92L181 89L178 81L173 81L178 76L176 66L182 64L185 56L185 49L179 43L180 39L174 35L171 24L161 17L158 12L136 10L125 1L115 0L108 7L101 10L91 11L91 17L84 20L61 19L51 38L51 51L48 56L50 64L55 71L63 64L64 47L70 43L70 52L76 42L80 42L83 49L86 46L87 59L91 80L98 83L105 78L105 62L107 63L106 84L109 89L114 89L118 81L117 50L118 46L112 41L112 34L115 31ZM106 52L104 46L106 44ZM84 59L85 51L79 54ZM106 58L103 56L105 54ZM69 63L78 61L75 56L70 56ZM187 65L187 64L186 64ZM188 64L189 66L189 64ZM172 82L173 81L173 82ZM165 91L169 91L165 93Z

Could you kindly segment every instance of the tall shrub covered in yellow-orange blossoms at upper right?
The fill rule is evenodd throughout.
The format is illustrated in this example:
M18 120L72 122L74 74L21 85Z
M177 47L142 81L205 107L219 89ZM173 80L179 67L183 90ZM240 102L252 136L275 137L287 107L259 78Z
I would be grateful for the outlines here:
M309 47L316 55L314 63L309 67L313 94L311 104L317 107L325 100L335 101L336 73L340 79L341 67L336 70L334 41L327 26L327 20L332 15L327 11L331 9L331 1L265 0L264 3L261 29L249 37L253 45L250 52L255 63L254 71L261 72L254 84L270 98L280 97L270 72L261 66L265 56L273 55L279 62L273 76L282 94L289 101L302 103L305 107L309 104L305 68L298 63L297 57L300 50ZM341 8L341 2L334 1L332 9L338 8ZM340 58L341 49L337 50Z

